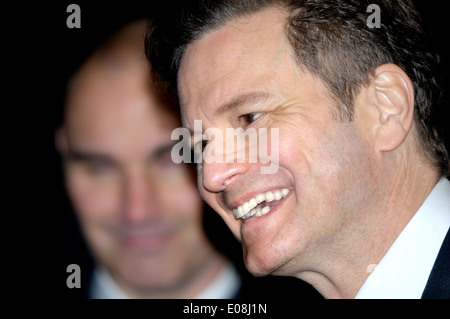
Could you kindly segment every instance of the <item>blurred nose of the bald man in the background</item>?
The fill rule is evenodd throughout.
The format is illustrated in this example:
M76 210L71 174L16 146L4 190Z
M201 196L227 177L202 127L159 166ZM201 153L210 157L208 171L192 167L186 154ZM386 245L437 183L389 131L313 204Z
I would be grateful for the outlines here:
M146 176L127 176L123 190L123 213L130 223L139 223L157 212L154 181Z

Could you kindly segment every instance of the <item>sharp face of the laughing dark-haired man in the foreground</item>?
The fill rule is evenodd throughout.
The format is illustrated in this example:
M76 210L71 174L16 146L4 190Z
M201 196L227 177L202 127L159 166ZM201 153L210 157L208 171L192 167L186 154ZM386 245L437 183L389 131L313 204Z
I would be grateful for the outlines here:
M345 249L337 246L351 242L347 234L355 235L350 229L375 192L373 154L357 116L351 123L336 120L326 87L299 68L281 10L234 20L191 43L179 92L190 129L194 120L224 135L230 127L279 129L274 174L261 174L267 165L261 163L198 167L202 197L242 241L251 272L295 275L317 268L324 249ZM223 108L231 101L237 103ZM270 193L275 200L269 203ZM252 206L252 198L270 211L236 219L233 209Z

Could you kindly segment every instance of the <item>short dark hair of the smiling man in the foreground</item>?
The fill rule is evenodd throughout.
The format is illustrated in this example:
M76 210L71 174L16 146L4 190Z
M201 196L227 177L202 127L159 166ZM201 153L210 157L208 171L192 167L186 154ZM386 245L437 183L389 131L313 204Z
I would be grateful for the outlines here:
M385 63L401 67L415 93L414 120L425 158L450 174L448 152L437 125L442 101L439 56L410 0L378 0L380 28L370 28L364 0L196 0L157 22L146 38L156 82L176 98L177 74L186 47L233 19L278 6L287 13L286 35L299 66L326 85L337 102L336 117L353 120L353 103L373 71Z

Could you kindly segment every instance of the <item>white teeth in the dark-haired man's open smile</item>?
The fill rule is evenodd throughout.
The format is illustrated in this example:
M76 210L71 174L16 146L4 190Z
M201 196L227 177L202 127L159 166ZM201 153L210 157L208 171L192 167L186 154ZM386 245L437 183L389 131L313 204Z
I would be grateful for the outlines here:
M261 204L264 201L270 203L274 200L280 200L281 198L286 197L287 194L289 194L289 189L287 188L283 188L275 192L269 191L258 194L249 201L239 206L238 208L233 209L234 218L247 219L252 216L265 215L270 211L270 207L269 206L264 206L263 208L256 207L258 204Z

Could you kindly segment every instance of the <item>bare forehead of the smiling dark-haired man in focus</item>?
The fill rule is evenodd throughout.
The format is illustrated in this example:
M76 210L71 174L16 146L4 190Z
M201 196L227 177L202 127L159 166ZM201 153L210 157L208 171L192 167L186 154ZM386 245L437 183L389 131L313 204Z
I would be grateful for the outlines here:
M280 33L285 34L285 15L270 7L233 20L188 45L178 74L183 125L192 127L192 120L201 115L199 108L219 106L226 98L247 93L245 87L236 88L237 77L267 73L258 69L261 66L276 68L288 42L285 36L280 38ZM211 116L210 112L204 115Z

